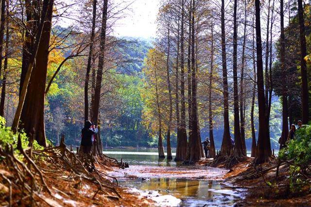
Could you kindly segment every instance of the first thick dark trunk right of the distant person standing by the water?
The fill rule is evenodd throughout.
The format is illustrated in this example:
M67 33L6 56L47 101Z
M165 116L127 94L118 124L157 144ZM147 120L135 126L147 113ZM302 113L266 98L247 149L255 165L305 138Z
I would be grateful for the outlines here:
M229 92L228 92L228 78L227 78L227 60L226 60L226 47L225 47L225 0L222 0L221 9L221 28L222 28L222 64L223 64L223 85L224 85L224 135L220 154L221 156L229 156L232 144L230 140L230 127L229 127Z

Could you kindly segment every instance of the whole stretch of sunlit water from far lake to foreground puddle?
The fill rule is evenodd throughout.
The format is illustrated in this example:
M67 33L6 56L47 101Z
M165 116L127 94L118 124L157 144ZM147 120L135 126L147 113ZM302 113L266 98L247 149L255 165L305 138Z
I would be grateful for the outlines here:
M119 185L154 200L156 206L234 206L243 199L244 189L232 189L221 180L224 169L158 160L156 150L112 149L104 153L130 165L111 173Z

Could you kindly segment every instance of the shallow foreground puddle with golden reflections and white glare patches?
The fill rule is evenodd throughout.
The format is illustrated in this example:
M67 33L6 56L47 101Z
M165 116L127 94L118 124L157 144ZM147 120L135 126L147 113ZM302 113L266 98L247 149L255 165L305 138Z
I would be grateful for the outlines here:
M121 186L139 189L142 196L158 206L234 206L243 198L243 189L225 189L221 181L185 178L150 178L119 180Z

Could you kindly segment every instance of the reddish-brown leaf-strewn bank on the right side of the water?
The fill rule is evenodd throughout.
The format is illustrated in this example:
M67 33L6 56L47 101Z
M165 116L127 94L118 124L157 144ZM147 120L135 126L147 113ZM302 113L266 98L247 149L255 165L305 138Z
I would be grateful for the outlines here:
M245 199L236 206L310 206L310 186L298 189L293 193L290 190L289 165L281 164L277 171L277 160L259 166L254 166L253 158L247 158L231 167L224 179L232 184L231 188L246 188ZM202 160L199 164L205 165L212 159ZM217 167L224 168L222 164Z

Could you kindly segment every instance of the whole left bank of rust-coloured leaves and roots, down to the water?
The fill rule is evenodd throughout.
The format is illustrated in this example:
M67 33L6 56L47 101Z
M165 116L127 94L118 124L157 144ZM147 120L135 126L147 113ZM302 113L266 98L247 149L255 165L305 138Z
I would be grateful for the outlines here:
M62 144L61 144L62 145ZM0 206L147 207L153 201L118 186L107 172L121 163L99 155L90 173L66 145L21 155L0 147ZM25 153L26 152L26 153Z

